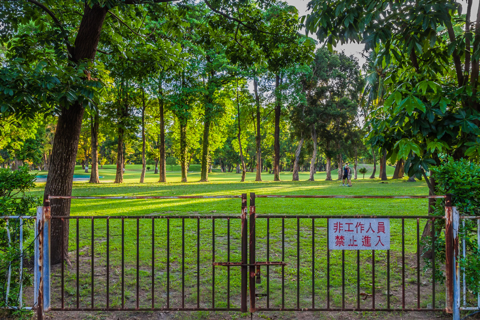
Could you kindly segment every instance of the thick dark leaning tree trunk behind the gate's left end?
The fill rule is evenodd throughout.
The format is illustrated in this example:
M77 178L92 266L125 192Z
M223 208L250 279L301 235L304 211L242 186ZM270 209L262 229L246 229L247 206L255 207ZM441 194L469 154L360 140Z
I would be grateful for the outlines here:
M83 60L92 61L94 59L95 53L97 53L100 32L102 30L107 10L107 6L100 7L99 5L95 5L93 8L90 8L87 5L84 6L84 12L75 38L75 44L70 50L70 60L72 62ZM85 78L89 79L89 74L86 74ZM83 112L84 109L82 104L75 102L68 106L68 108L63 107L62 112L59 115L52 156L50 159L51 170L49 170L43 193L44 206L48 205L46 200L49 195L72 195L73 172L75 169L75 159L77 157ZM69 199L53 199L50 206L52 216L70 215ZM68 219L65 219L63 234L61 223L60 219L53 219L51 222L50 259L52 264L61 261L62 240L68 244ZM65 245L64 248L66 253L68 245Z

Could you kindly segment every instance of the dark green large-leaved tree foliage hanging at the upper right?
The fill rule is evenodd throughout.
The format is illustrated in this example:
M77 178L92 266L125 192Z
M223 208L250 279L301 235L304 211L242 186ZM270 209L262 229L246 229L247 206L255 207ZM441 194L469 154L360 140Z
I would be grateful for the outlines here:
M387 149L392 162L408 159L408 175L418 178L440 154L480 156L478 73L468 72L478 68L480 34L464 31L470 21L459 2L312 0L309 7L306 28L328 47L352 40L372 53L367 79L378 85L368 97L376 100L366 117L369 143Z

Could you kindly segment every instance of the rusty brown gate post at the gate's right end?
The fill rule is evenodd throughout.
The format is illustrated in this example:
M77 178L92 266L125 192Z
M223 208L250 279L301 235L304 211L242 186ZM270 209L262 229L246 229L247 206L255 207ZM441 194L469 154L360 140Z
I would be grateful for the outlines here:
M448 313L453 313L453 220L452 220L452 196L447 195L445 199L445 273L446 273L446 291L445 307ZM434 221L432 220L432 230L434 230ZM432 239L433 241L433 239ZM433 247L433 243L432 243ZM433 251L433 250L432 250ZM432 252L433 254L433 252Z

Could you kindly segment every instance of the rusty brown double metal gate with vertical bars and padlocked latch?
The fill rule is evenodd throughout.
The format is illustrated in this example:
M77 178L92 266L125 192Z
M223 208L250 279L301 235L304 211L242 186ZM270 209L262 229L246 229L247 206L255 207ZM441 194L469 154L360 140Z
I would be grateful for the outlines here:
M249 205L247 194L49 197L53 201L238 198L240 215L50 216L50 207L40 207L33 305L38 318L50 310L446 311L458 318L459 216L450 196L250 193ZM257 198L265 213L257 213ZM268 212L269 201L290 206L298 198L436 198L446 200L446 213L378 216L390 219L398 230L389 250L333 252L326 242L328 219L376 216ZM432 258L425 262L420 238L427 221ZM436 221L445 223L445 243L439 243ZM50 265L51 225L70 234L70 242L61 244L59 266ZM445 265L435 259L439 246L446 249ZM445 270L445 285L436 278L440 270Z

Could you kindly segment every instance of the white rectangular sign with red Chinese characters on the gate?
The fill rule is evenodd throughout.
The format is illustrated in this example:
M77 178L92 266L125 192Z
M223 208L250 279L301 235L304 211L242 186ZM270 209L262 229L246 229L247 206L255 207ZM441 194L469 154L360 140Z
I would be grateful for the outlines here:
M328 219L328 249L389 250L390 220Z

